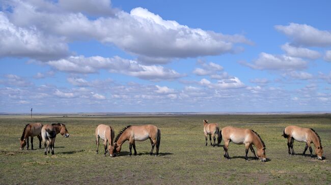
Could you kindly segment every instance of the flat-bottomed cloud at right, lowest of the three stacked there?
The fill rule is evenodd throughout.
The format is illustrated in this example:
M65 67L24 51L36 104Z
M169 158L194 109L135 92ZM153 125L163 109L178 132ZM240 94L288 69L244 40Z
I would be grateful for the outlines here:
M260 53L259 58L253 63L240 62L243 65L249 66L253 69L260 70L295 70L304 69L308 62L297 57L290 57L286 55L272 55L268 53Z

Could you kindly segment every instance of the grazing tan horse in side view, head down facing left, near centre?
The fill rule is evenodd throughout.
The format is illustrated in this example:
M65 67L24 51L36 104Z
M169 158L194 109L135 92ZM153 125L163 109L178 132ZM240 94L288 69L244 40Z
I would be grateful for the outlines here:
M154 146L156 145L155 156L157 156L161 141L161 131L154 125L126 126L119 132L115 139L115 150L119 154L122 144L126 140L129 140L129 156L132 155L132 146L134 155L137 155L137 151L135 150L135 141L145 141L147 139L149 139L152 144L152 150L149 154L153 155Z

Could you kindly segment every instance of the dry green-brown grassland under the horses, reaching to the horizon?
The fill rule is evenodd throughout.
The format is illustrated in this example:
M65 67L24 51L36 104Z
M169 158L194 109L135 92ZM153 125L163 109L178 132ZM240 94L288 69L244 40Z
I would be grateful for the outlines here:
M223 147L205 146L203 119L257 131L266 144L268 162L245 161L244 146L230 143L231 160ZM18 138L27 123L63 122L69 138L58 135L56 155L43 149L19 151ZM128 143L121 156L95 153L98 124L116 133L126 125L154 124L161 130L160 155L149 156L150 142L136 142L138 156L129 157ZM281 136L288 125L314 128L320 135L325 160L289 156ZM37 138L34 146L38 146ZM223 144L223 142L221 143ZM102 149L102 145L100 145ZM294 142L294 151L304 150ZM102 149L103 150L103 149ZM101 151L102 151L101 150ZM252 157L252 154L249 153ZM190 115L134 117L0 117L0 184L331 184L331 115Z

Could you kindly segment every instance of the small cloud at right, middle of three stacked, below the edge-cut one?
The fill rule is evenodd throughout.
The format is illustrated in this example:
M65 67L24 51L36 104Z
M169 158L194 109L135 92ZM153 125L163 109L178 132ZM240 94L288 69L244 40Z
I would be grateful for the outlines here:
M313 60L321 57L321 54L317 51L310 50L307 48L294 47L291 46L289 43L282 45L282 50L284 50L286 54L291 57L302 57Z

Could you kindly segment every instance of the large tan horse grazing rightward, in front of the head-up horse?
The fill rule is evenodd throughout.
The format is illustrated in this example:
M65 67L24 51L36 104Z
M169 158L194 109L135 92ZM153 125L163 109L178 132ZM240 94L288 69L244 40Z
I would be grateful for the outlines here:
M245 160L248 161L247 154L249 152L249 149L251 149L251 152L254 154L255 159L258 159L255 155L255 151L253 149L253 144L257 148L257 156L262 162L266 162L266 155L265 155L265 144L263 140L261 139L260 135L256 133L254 130L250 129L243 129L243 128L236 128L236 127L224 127L220 131L219 138L224 140L224 157L227 159L230 159L229 153L228 153L228 146L229 142L232 141L235 144L244 144L246 147L245 150Z

